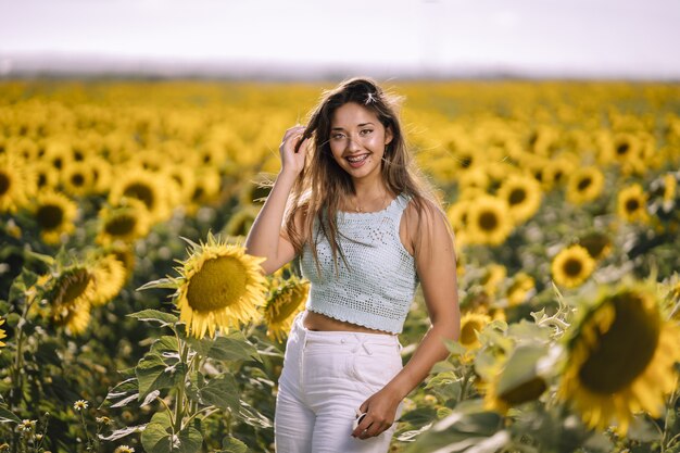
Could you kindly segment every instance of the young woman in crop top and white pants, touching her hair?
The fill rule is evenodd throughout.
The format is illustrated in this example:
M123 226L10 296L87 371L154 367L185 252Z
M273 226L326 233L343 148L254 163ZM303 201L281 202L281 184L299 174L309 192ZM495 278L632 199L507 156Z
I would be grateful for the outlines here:
M395 109L369 78L326 92L286 131L248 236L265 273L299 259L311 281L279 378L277 453L387 452L402 400L458 338L453 235ZM396 335L418 282L431 327L403 366Z

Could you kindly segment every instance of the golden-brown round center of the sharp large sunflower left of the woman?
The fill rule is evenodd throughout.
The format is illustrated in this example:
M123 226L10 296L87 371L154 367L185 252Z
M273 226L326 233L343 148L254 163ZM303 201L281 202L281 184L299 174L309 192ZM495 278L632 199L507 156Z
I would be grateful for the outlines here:
M245 294L245 270L243 264L232 256L207 260L189 281L189 306L197 312L212 312L238 304Z

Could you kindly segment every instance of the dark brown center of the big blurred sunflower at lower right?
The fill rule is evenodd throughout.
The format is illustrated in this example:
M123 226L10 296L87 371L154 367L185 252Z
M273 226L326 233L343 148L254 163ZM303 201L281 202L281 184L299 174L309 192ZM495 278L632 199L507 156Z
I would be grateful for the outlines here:
M591 391L612 394L633 382L652 361L660 319L658 312L645 310L644 300L633 292L617 294L605 303L614 305L614 323L606 332L596 332L579 378Z

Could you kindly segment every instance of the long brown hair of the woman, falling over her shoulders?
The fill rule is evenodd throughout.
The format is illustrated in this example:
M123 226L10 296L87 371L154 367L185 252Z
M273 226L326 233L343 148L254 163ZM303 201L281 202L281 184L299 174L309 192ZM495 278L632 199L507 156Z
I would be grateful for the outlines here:
M305 166L289 197L285 226L298 255L302 253L305 241L310 243L317 268L318 238L314 237L315 221L331 247L336 269L338 255L344 261L338 243L336 215L342 200L354 194L354 185L350 175L332 158L329 140L332 115L348 102L368 109L378 117L386 131L391 130L392 140L386 146L381 162L382 180L391 193L411 196L418 212L418 228L426 204L443 214L433 190L420 175L407 151L398 117L400 101L400 97L385 92L372 78L354 77L340 83L332 90L324 91L319 103L310 114L303 137L312 138L312 144L307 150ZM295 228L297 213L302 214L302 231Z

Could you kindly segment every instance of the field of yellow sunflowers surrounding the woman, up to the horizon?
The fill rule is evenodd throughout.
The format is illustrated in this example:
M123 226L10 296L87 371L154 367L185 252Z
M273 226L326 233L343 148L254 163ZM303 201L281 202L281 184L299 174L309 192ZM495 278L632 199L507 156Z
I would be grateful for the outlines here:
M331 85L0 83L0 452L274 452L308 288L242 243ZM391 451L680 452L680 86L388 88L462 310Z

